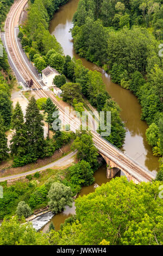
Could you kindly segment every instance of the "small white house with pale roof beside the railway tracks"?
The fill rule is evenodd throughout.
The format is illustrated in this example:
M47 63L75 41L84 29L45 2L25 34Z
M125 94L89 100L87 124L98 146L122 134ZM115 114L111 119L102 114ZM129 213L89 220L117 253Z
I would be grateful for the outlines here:
M60 74L57 70L51 68L51 66L47 66L47 68L42 70L42 81L47 87L53 87L53 79L58 75Z

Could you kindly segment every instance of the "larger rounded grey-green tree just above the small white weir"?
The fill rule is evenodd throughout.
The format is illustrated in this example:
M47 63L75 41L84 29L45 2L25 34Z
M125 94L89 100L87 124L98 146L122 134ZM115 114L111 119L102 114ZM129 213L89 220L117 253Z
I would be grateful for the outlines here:
M64 210L66 205L72 207L73 199L71 188L64 184L54 182L51 185L47 197L49 199L49 209L56 214Z

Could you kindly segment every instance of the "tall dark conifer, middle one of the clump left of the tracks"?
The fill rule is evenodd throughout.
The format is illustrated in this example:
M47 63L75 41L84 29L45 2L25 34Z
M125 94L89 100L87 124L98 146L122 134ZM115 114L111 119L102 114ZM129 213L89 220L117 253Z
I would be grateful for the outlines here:
M28 153L33 153L37 157L43 156L43 147L45 145L43 136L43 117L37 108L34 97L31 97L29 100L25 118Z

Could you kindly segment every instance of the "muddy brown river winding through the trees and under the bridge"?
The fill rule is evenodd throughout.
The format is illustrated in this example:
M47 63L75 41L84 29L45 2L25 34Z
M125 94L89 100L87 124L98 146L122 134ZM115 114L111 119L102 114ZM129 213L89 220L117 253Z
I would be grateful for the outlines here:
M77 59L80 57L74 51L73 40L69 31L73 27L72 18L77 10L78 2L79 0L70 0L67 4L62 6L58 12L54 14L49 26L50 33L55 35L57 41L60 42L65 56L68 54ZM86 68L101 72L106 91L122 109L121 118L127 131L123 149L130 157L146 167L149 172L155 174L159 168L158 157L153 156L152 148L146 141L147 124L140 119L141 106L137 101L137 98L130 93L129 90L123 89L118 84L112 83L110 76L101 68L91 62L87 62L84 58L80 59ZM83 196L83 194L93 192L96 184L100 186L102 183L106 182L109 182L109 180L106 179L106 166L102 166L95 173L95 184L89 187L83 187L79 195ZM65 219L70 217L71 214L74 214L74 212L75 206L73 204L71 209L66 208L64 212L55 215L52 218L55 229L58 230L60 228L60 223L64 223ZM43 228L43 231L47 230L47 227L48 225Z

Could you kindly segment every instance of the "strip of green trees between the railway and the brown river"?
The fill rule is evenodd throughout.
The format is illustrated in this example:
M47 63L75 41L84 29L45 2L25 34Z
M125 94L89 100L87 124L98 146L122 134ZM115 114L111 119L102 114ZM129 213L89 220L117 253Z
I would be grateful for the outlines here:
M86 97L98 111L111 111L111 135L108 141L121 148L126 131L120 118L120 107L105 92L102 76L97 71L89 71L80 60L64 56L60 44L48 31L52 14L67 1L31 1L28 19L24 23L18 37L22 46L34 62L35 67L41 72L47 65L60 72L61 76L55 78L55 84L62 89L63 100L73 104L75 110L82 112L83 99ZM56 4L57 3L57 4ZM62 83L64 76L71 83ZM101 130L99 129L99 132Z

